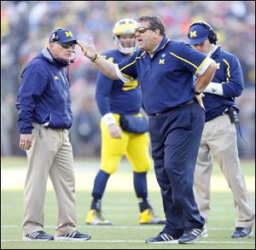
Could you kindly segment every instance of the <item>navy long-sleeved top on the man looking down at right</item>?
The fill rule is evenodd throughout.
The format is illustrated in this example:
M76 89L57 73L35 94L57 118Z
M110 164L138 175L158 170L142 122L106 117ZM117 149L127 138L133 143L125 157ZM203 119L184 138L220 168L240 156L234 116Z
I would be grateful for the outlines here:
M224 96L205 93L203 102L206 108L206 121L221 115L230 106L239 112L235 97L241 95L244 87L241 65L236 55L227 53L218 47L211 57L218 66L212 82L222 84Z

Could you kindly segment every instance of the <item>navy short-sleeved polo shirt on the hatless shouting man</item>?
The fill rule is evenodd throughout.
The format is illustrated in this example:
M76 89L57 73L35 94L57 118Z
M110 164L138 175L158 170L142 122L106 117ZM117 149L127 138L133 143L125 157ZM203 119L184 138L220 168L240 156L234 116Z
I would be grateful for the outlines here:
M165 37L152 58L139 49L119 63L117 73L123 80L138 79L148 114L162 113L195 97L193 74L199 72L206 58L189 44Z

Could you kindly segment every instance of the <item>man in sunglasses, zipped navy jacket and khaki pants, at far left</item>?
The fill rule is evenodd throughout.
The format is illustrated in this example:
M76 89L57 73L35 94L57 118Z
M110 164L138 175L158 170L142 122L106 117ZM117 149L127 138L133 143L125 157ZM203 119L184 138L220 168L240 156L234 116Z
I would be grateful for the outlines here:
M73 148L68 129L73 122L66 67L77 40L71 31L56 29L49 46L21 74L16 107L20 148L28 169L24 189L23 241L86 241L90 235L75 229ZM58 201L55 237L44 232L44 199L50 177Z

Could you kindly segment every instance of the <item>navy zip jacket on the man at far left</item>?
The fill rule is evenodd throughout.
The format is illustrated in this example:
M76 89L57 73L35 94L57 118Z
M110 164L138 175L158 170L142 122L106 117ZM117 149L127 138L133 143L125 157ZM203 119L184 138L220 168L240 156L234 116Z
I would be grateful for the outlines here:
M16 108L21 134L32 133L32 122L51 128L69 129L73 122L67 62L59 61L44 48L21 74Z

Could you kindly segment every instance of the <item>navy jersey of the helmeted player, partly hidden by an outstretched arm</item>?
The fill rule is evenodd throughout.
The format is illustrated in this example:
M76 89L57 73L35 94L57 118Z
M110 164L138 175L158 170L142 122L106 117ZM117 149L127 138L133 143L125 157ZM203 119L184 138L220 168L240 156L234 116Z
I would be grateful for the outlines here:
M112 49L102 56L108 61L118 63L124 61L128 55ZM142 94L137 80L124 84L121 80L112 80L99 72L96 79L96 102L102 116L106 113L139 113Z

